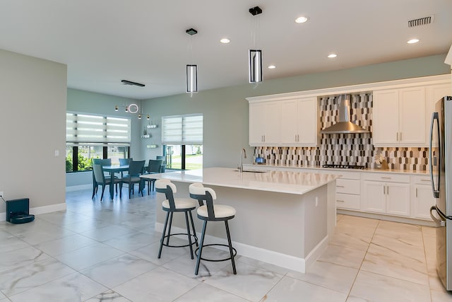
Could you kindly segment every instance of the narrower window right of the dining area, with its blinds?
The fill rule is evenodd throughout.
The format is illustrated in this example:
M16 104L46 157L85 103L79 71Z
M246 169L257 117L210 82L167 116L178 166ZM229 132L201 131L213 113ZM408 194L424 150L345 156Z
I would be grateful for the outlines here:
M167 168L203 168L203 115L162 117L162 144Z

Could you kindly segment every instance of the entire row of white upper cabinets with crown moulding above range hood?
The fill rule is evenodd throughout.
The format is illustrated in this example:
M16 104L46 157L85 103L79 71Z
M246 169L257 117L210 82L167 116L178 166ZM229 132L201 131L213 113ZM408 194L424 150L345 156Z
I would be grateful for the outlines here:
M434 103L452 95L450 75L261 95L249 101L250 146L318 146L319 102L325 95L373 92L376 147L428 147Z

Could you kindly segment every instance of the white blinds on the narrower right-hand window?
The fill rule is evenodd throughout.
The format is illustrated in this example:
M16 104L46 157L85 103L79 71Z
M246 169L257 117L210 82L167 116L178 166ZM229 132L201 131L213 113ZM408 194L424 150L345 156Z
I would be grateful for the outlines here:
M203 144L203 115L162 117L162 144Z

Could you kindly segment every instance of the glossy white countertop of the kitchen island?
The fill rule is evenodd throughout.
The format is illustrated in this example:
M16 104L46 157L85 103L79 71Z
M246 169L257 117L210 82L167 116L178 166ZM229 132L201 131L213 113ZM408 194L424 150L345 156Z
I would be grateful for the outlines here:
M141 175L142 178L165 178L178 182L202 182L204 185L237 187L240 189L305 194L328 184L340 175L270 171L239 173L234 168L204 168L169 173Z

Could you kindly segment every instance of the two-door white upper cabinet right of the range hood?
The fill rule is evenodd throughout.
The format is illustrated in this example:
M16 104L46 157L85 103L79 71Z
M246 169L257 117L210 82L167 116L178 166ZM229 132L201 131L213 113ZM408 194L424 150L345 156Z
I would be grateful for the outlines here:
M427 146L424 86L374 91L374 145Z

